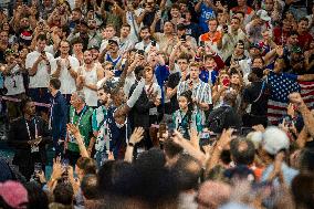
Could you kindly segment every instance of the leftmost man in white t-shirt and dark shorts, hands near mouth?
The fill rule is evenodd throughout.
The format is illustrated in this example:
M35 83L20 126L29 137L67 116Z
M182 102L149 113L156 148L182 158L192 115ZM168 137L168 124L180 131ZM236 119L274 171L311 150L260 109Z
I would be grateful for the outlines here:
M50 94L48 92L51 70L55 70L56 64L51 53L45 52L46 46L45 34L36 38L36 50L29 53L25 60L25 67L29 71L30 84L29 95L33 102L50 103ZM49 108L38 106L38 112L48 113Z

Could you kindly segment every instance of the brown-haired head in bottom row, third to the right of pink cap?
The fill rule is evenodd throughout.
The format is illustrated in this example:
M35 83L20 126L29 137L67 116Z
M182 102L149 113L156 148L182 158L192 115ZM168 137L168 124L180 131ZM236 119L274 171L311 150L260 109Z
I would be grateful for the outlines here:
M98 197L97 175L85 175L81 189L86 199L96 199Z

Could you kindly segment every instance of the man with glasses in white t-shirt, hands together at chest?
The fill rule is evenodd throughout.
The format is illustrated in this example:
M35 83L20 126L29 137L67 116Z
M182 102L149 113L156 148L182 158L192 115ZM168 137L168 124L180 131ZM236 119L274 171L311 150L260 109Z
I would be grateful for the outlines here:
M56 77L61 82L60 92L70 103L71 94L76 91L76 77L80 62L76 58L69 54L70 43L69 41L62 41L60 43L60 56L55 59L56 69L52 71L52 76Z

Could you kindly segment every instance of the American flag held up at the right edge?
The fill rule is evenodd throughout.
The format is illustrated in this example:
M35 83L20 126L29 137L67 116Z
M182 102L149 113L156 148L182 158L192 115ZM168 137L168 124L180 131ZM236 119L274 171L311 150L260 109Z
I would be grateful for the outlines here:
M314 107L314 81L299 82L296 75L271 72L268 83L271 85L271 97L268 103L268 119L271 124L278 124L286 115L290 93L300 92L307 107Z

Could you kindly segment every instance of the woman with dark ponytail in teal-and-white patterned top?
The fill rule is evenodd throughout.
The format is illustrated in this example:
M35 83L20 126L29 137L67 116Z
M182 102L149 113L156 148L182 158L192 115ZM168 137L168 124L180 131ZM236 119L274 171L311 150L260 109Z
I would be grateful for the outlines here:
M199 133L202 130L200 113L196 111L192 102L192 92L184 92L179 98L179 109L172 115L174 127L187 139L190 138L189 129L195 128Z

